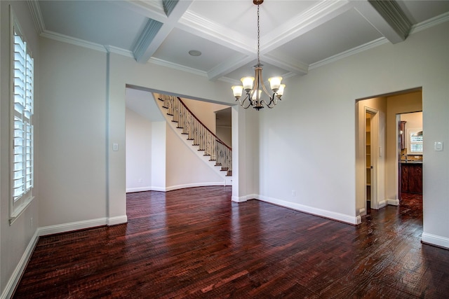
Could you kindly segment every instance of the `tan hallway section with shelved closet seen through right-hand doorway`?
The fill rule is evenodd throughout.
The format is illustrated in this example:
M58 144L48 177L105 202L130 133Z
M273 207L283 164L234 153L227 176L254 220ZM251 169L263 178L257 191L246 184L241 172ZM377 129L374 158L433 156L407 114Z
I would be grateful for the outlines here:
M422 111L422 88L356 100L356 211L359 216L366 215L370 208L399 204L398 115L417 111Z

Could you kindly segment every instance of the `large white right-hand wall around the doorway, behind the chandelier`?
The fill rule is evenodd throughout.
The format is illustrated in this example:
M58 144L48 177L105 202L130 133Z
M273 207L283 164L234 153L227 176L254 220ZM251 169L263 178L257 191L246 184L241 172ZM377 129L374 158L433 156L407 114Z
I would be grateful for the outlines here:
M445 22L287 79L282 103L260 113L260 195L356 218L355 101L422 86L423 240L449 247L449 151L433 149L449 141L448 31Z

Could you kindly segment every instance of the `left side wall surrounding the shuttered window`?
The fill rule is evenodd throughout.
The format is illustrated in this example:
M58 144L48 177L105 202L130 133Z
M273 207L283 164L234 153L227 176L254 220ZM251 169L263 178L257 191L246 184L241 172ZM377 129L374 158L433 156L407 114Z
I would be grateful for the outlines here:
M40 54L39 36L34 32L34 23L29 14L26 1L0 1L0 298L8 298L13 292L15 283L20 278L27 258L31 255L37 241L39 225L38 205L41 200L39 193L39 177L34 176L34 200L16 218L9 223L9 169L10 169L10 4L13 6L16 18L20 23L22 34L34 57L34 170L37 172L41 163L36 159L39 155L39 83ZM37 130L36 130L37 129ZM32 220L32 221L31 221Z

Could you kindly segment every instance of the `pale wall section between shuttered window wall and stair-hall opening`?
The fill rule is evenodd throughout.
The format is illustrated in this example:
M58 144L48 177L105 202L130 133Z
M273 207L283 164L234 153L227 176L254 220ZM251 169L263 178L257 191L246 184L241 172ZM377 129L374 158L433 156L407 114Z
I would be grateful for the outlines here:
M49 39L41 54L39 225L106 224L106 55Z

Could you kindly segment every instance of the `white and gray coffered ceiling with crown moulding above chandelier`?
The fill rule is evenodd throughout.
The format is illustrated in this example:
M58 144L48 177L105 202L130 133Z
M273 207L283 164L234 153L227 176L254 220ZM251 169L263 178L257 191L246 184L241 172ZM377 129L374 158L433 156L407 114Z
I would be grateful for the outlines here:
M236 83L257 62L251 0L29 1L41 36ZM264 77L310 69L449 20L449 1L265 0ZM189 55L190 50L201 52Z

